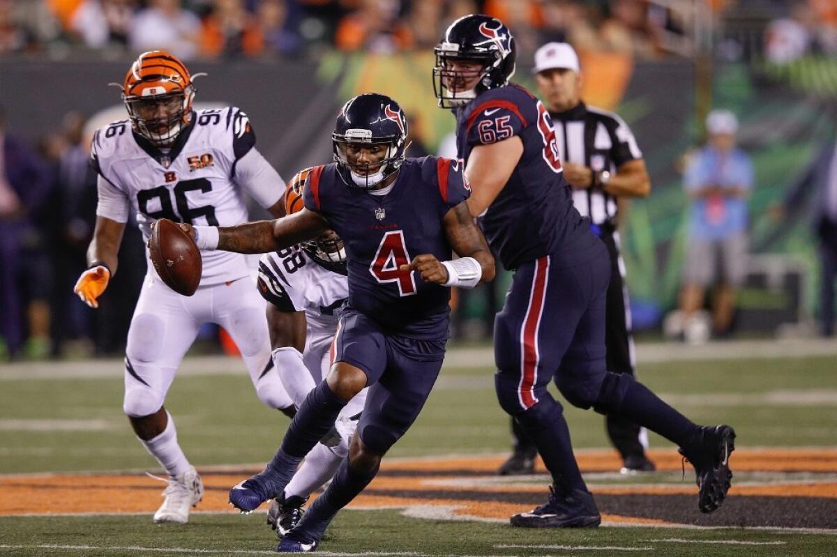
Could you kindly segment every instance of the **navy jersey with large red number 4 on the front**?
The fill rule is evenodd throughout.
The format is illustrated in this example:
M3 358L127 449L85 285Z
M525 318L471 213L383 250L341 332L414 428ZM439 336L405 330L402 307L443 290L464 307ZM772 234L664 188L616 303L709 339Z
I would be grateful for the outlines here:
M422 253L450 259L444 215L469 196L459 161L425 156L404 161L385 196L347 186L333 163L317 166L303 199L346 243L349 306L388 332L438 340L448 335L450 289L398 266Z

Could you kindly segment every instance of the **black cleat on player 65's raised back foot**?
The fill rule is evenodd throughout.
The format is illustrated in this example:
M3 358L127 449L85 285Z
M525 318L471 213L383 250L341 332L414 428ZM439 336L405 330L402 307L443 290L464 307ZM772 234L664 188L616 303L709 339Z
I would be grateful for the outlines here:
M696 441L680 448L680 454L695 467L701 513L711 513L727 498L732 485L729 457L734 450L735 430L729 426L701 427Z

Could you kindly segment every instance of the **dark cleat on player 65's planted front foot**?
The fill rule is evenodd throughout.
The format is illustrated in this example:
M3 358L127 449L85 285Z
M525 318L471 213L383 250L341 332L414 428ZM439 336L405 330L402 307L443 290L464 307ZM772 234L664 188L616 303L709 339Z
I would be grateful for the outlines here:
M552 486L546 504L511 517L511 525L522 528L595 528L601 523L592 494L573 489L559 495Z

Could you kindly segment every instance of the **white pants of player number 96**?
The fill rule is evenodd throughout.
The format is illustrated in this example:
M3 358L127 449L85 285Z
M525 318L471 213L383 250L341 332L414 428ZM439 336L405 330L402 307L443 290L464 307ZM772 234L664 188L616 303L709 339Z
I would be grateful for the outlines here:
M270 339L264 299L249 279L182 296L149 273L128 330L123 405L128 416L160 410L183 355L205 323L218 324L233 337L259 400L272 408L293 403L275 370L263 375L270 362Z

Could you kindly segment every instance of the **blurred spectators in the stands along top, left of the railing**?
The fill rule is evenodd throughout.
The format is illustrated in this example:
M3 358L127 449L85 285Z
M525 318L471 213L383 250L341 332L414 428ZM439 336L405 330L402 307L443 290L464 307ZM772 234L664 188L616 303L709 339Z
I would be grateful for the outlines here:
M707 0L708 2L708 0ZM708 6L709 4L707 4ZM429 49L467 13L515 29L519 47L658 57L677 50L692 0L0 0L0 55L119 56L164 48L182 59L298 56L318 49Z

